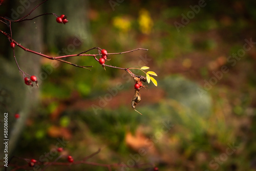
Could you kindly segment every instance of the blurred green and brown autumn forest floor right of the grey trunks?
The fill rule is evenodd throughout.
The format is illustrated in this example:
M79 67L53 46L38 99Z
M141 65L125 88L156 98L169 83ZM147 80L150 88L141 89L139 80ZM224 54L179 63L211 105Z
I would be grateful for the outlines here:
M158 87L141 90L142 101L136 107L141 116L131 108L134 82L123 71L104 71L90 57L69 58L94 67L89 71L61 63L44 80L39 88L41 104L32 112L15 155L37 158L57 137L65 137L69 141L65 148L75 160L101 148L90 161L126 164L130 154L145 147L147 154L139 163L151 162L160 170L254 170L255 47L234 67L227 58L243 49L245 38L255 40L255 1L206 1L178 32L174 22L181 22L181 14L195 5L197 1L134 0L123 1L113 11L108 1L90 2L87 15L93 41L72 53L92 47L109 53L149 49L109 56L106 63L148 66L158 74ZM69 45L68 37L62 39L60 45L48 47L49 53ZM150 60L142 60L145 56ZM43 66L49 67L49 62ZM224 65L229 72L205 91L205 81L216 77L213 72ZM123 88L105 100L117 82ZM204 90L203 96L198 89ZM102 108L100 99L106 102ZM97 114L93 104L100 107ZM167 133L162 131L164 122L173 124ZM226 154L229 144L238 146L232 155ZM89 165L72 169L106 170Z

